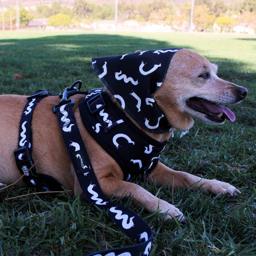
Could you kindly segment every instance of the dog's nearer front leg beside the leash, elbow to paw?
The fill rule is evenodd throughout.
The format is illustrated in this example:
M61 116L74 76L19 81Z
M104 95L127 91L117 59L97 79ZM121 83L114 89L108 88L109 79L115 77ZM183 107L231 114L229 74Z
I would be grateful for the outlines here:
M145 206L149 212L159 211L167 213L165 220L177 217L181 223L185 223L185 217L178 208L161 200L153 194L146 191L139 185L113 177L103 177L99 180L101 189L107 197L114 195L115 197L132 196L138 207Z

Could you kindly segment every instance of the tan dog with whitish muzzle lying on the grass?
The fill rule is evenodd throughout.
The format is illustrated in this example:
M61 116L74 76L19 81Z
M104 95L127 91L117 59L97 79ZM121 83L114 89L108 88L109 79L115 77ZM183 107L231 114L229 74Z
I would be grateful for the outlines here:
M194 117L214 124L223 123L225 117L230 116L230 113L210 113L206 108L207 101L202 101L202 99L216 104L233 104L246 97L247 90L244 87L224 81L218 78L216 73L216 65L191 50L181 49L174 55L162 86L154 94L155 101L165 113L172 127L187 130L193 126ZM74 113L82 138L86 138L84 143L105 195L108 197L113 194L116 197L132 195L138 206L145 205L149 212L161 210L161 212L168 213L167 218L180 215L180 221L185 222L183 214L172 204L153 196L135 183L123 181L123 172L117 162L97 144L82 123L78 103L83 97L85 96L75 95L72 97L75 99ZM113 100L115 99L113 98ZM0 182L5 184L11 184L21 176L15 163L13 151L17 148L21 111L26 102L26 96L0 95L2 113L0 122ZM75 192L78 188L79 192L82 193L63 142L57 117L52 111L53 106L58 102L58 96L46 97L34 110L32 157L36 162L47 152L44 158L36 164L37 172L54 177L67 190ZM132 122L135 123L133 120ZM138 124L136 125L139 127ZM153 134L141 127L139 128L160 142L168 140L171 136L171 132ZM100 160L97 158L98 155L101 156ZM189 188L196 183L193 188L201 187L215 194L234 195L240 193L229 183L202 179L186 172L175 171L160 162L151 172L149 182L156 182L159 186L168 182L172 186L172 182L174 182L174 187L180 188ZM20 183L25 186L23 181Z

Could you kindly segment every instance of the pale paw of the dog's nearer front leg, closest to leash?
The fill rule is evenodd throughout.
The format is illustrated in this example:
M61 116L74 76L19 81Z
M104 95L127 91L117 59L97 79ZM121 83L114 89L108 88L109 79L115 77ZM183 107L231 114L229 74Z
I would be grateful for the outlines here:
M171 218L176 218L178 222L185 224L186 218L183 213L176 208L174 205L165 202L164 200L159 200L159 209L161 213L167 213L164 220Z

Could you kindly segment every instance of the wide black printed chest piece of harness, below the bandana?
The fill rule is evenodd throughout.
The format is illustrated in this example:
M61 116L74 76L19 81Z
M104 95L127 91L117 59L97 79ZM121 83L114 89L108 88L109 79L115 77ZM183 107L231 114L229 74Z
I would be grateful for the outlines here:
M167 142L158 142L142 132L102 88L91 90L80 101L79 109L87 131L116 160L124 179L155 169Z

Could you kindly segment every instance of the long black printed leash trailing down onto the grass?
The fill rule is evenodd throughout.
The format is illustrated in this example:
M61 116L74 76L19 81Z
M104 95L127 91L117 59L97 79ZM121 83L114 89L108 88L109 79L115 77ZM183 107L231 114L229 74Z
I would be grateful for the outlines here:
M73 164L76 177L86 198L95 206L108 213L110 219L137 245L94 252L87 256L139 256L149 255L153 232L150 226L136 213L110 202L103 194L95 176L91 161L83 143L72 108L72 102L57 105L62 136Z

